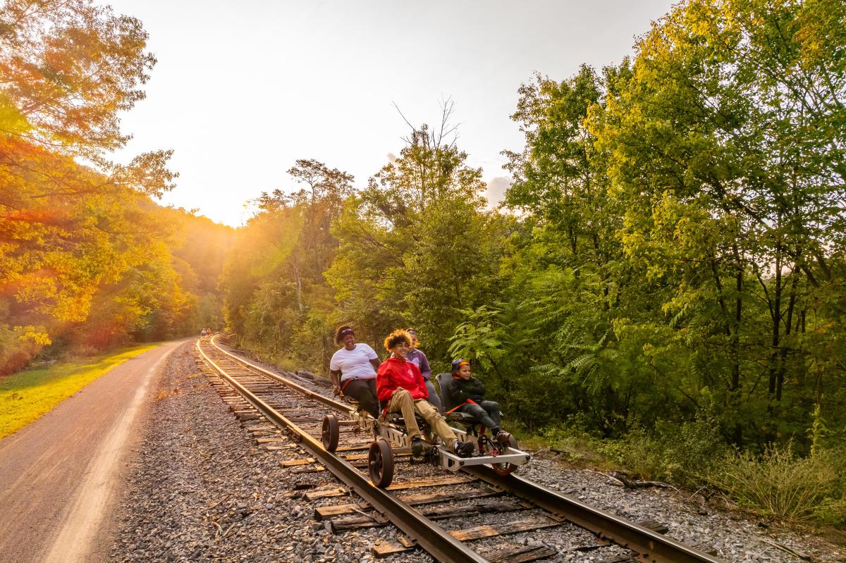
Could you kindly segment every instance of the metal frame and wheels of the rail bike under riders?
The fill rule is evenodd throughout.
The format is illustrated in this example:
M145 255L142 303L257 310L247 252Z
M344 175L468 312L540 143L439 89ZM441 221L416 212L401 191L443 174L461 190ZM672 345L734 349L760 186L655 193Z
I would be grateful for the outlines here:
M349 402L349 398L347 399ZM357 426L357 429L372 433L374 440L370 445L367 454L367 467L370 473L371 482L376 487L387 487L393 481L393 456L398 453L411 453L411 439L405 424L398 413L388 413L386 418L373 418L369 413L361 410L351 403L349 410L350 420ZM448 418L448 421L450 419ZM470 457L456 456L448 447L442 444L436 436L432 435L428 424L421 418L417 418L420 428L421 440L426 450L423 459L440 465L443 469L456 472L462 467L475 465L490 465L500 475L508 475L521 465L525 465L531 459L530 454L517 449L517 442L510 439L508 445L497 443L492 436L486 434L485 429L473 418L458 420L460 424L466 425L467 430L459 430L453 427L453 432L462 441L473 441L478 447L479 453L486 455L474 455ZM335 451L338 448L340 437L340 422L334 414L327 414L323 417L321 429L321 441L327 451ZM476 430L481 427L481 431Z

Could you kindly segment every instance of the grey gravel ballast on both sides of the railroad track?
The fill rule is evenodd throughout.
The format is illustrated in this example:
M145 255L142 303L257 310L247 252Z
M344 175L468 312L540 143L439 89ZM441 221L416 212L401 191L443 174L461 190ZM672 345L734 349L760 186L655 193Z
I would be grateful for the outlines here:
M318 385L305 386L331 393ZM326 522L316 522L316 506L358 499L348 496L310 502L302 498L294 490L295 484L340 484L328 472L281 467L281 461L301 455L296 448L267 451L255 445L253 435L245 428L250 424L234 417L201 373L193 343L168 359L151 412L146 438L129 472L113 560L361 563L376 560L370 552L376 540L398 535L391 526L334 534ZM404 477L410 477L426 473L427 467L406 464L402 471L409 473ZM716 501L690 492L624 489L601 473L565 467L549 452L535 456L519 475L633 521L661 522L669 528L668 536L713 550L725 560L801 560L786 549L814 561L846 560L846 550L820 538L802 538L794 532L765 527L763 522L744 518L738 511L723 510ZM501 516L508 519L507 514ZM486 521L476 520L470 518L464 524L475 526ZM459 522L442 525L448 529L462 527ZM554 561L598 562L624 553L617 546L576 551L574 545L591 543L590 534L565 528L569 527L533 530L474 545L488 554L506 545L543 543L557 549ZM383 560L431 561L431 557L417 550Z

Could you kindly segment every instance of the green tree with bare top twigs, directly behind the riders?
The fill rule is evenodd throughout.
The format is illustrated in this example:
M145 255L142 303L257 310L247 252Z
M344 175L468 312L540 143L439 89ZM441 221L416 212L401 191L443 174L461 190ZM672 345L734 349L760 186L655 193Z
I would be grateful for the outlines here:
M370 342L415 325L430 358L447 358L461 310L496 292L508 221L484 210L481 170L468 167L443 108L436 131L413 128L395 161L349 202L327 271L339 320Z

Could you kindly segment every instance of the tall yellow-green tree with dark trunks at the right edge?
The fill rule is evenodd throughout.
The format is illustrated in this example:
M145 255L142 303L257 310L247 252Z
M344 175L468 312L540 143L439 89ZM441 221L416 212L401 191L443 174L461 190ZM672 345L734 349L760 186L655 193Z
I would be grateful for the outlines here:
M718 369L731 373L717 380L743 388L744 412L770 439L796 432L779 428L790 408L778 403L801 401L786 385L789 373L806 379L813 296L841 284L829 262L844 233L844 14L826 0L682 3L591 116L624 201L627 254L649 253L678 329L705 314L700 333L724 333ZM761 376L766 413L754 408Z

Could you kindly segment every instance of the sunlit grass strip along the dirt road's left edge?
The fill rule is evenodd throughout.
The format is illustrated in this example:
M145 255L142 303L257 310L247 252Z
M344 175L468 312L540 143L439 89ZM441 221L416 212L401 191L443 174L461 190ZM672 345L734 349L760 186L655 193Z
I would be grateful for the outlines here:
M0 378L0 438L30 424L110 369L157 346L121 348L102 356L25 369Z

